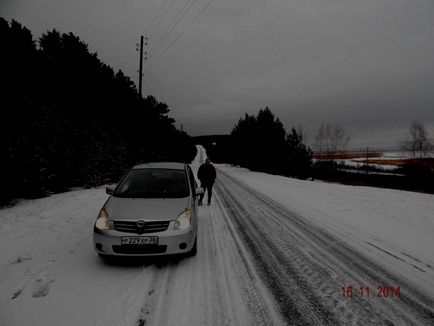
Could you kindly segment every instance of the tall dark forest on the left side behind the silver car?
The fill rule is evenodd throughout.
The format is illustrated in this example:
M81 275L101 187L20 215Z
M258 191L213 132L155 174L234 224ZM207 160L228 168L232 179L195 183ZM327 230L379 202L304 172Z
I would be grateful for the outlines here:
M72 33L38 42L0 17L0 201L116 181L139 162L189 162L168 106L137 94Z

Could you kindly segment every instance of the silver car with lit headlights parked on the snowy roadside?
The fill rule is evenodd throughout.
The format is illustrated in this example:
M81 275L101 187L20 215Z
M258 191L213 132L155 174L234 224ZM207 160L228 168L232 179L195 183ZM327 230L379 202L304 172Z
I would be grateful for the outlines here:
M110 194L94 226L102 256L196 255L197 188L184 163L148 163L129 170Z

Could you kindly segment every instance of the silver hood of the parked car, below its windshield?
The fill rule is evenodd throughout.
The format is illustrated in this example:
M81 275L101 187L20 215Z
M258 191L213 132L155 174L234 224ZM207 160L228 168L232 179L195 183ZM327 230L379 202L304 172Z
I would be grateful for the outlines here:
M118 198L110 197L105 210L113 220L176 220L188 208L185 198Z

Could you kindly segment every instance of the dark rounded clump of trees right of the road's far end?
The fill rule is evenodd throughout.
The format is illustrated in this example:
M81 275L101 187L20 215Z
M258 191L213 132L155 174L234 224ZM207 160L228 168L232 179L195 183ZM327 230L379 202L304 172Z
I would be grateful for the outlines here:
M240 118L229 136L194 139L214 162L302 178L310 175L312 151L303 143L302 131L293 127L286 132L269 108Z

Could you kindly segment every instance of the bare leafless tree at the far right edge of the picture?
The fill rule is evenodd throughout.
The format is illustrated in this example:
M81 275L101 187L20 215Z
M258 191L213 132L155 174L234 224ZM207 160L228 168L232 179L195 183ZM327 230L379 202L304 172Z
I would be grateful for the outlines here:
M413 121L408 131L407 138L401 141L401 149L410 153L413 159L427 157L432 145L425 126L418 121Z

